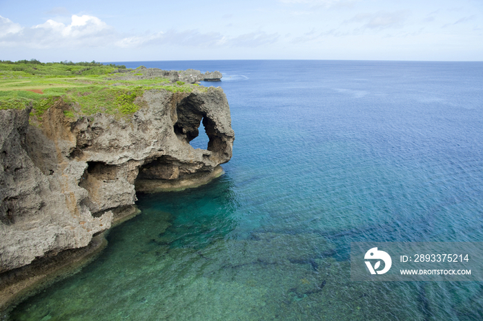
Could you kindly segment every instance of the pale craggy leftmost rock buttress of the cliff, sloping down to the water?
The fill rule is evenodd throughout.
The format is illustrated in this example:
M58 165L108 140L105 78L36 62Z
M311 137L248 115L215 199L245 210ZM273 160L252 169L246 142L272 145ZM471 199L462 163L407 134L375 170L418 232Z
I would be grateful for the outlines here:
M95 218L81 203L88 194L77 185L77 176L85 163L50 163L62 144L44 135L37 143L45 149L32 150L32 135L40 133L28 126L29 112L0 110L0 272L48 252L84 247L112 220L112 212ZM37 158L42 154L46 157Z

